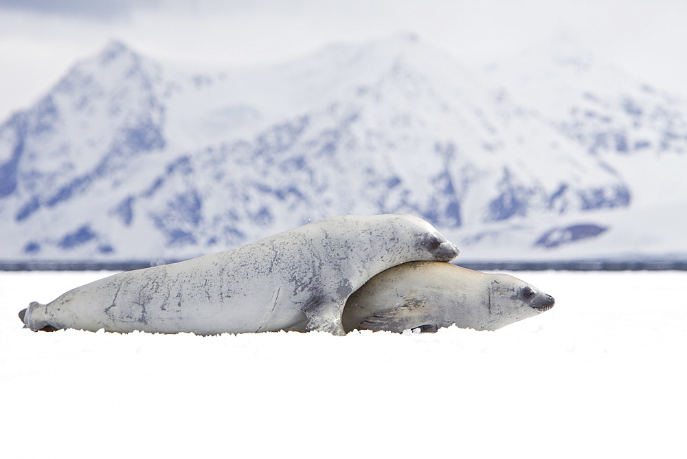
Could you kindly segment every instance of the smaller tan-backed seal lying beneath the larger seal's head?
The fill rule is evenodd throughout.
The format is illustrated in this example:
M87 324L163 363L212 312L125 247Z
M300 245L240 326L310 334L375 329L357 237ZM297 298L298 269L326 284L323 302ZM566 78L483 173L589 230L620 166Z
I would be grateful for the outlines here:
M553 306L551 295L507 274L409 262L377 274L354 292L343 309L343 328L400 333L455 324L497 330Z

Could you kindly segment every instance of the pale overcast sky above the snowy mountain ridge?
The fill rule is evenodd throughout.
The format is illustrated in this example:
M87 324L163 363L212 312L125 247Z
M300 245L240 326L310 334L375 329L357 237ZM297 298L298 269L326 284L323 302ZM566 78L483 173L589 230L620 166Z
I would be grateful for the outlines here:
M685 24L682 0L0 0L0 120L111 38L153 57L230 67L397 32L470 65L565 36L687 96Z

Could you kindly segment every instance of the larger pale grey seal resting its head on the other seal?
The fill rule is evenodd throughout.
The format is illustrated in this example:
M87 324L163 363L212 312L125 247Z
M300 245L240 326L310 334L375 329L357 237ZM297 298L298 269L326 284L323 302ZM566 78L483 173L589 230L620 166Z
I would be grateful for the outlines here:
M451 260L458 249L415 216L339 216L243 247L126 271L36 302L34 331L60 328L199 335L308 330L342 335L348 296L410 260Z

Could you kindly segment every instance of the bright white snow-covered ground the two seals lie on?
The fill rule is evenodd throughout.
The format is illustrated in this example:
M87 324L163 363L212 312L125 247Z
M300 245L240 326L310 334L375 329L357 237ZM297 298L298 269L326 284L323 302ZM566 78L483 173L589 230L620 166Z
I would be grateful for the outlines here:
M0 456L654 457L687 448L687 272L518 272L495 332L21 329L107 272L0 273Z

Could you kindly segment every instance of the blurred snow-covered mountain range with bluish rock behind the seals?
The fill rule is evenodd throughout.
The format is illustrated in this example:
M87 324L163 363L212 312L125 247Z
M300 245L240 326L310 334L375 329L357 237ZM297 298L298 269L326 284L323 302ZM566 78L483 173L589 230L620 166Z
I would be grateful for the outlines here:
M397 36L190 71L114 42L0 126L0 259L179 259L380 212L466 260L680 258L686 150L684 101L574 53L466 69Z

